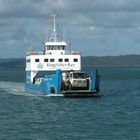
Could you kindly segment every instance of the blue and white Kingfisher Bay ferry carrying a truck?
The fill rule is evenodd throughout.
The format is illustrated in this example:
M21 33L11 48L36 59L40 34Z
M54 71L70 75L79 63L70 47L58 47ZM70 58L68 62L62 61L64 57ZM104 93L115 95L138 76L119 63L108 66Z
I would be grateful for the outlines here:
M81 53L58 38L56 15L52 17L52 34L42 51L27 52L25 90L46 96L99 96L98 70L93 69L90 76L81 70Z

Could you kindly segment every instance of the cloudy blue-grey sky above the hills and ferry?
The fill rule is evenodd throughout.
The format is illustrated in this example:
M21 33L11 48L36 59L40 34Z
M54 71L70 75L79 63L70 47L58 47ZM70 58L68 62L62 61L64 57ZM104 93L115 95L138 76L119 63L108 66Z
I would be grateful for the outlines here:
M59 36L83 56L140 55L140 0L0 0L0 58L42 50L53 11Z

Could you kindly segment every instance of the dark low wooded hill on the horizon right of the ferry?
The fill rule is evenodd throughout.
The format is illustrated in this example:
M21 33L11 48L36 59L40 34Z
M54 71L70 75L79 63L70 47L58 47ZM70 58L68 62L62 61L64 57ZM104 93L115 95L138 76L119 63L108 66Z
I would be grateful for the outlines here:
M140 67L140 55L82 57L84 67Z

